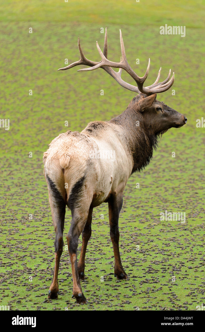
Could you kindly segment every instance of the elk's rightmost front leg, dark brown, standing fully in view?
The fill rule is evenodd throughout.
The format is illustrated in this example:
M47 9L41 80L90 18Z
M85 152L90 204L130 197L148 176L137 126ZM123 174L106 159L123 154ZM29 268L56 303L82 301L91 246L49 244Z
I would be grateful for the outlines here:
M118 220L119 214L123 205L123 193L120 194L111 194L108 200L109 207L109 222L110 222L110 237L113 243L114 257L115 257L115 277L118 279L128 279L127 274L125 273L119 251L119 228Z

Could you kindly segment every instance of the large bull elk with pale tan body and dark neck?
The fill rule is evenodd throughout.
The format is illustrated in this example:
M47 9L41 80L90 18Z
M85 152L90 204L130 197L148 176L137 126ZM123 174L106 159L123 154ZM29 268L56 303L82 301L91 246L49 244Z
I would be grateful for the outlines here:
M122 33L120 31L122 57L120 62L107 58L107 29L104 49L97 49L100 62L88 60L80 46L80 60L58 70L66 70L77 65L87 65L78 71L103 68L122 87L138 95L129 103L127 109L110 121L90 122L81 132L67 131L50 143L44 153L44 176L48 186L49 203L56 232L55 266L48 298L57 298L58 270L63 251L63 229L66 206L72 213L72 221L67 234L68 250L73 275L73 296L77 303L86 303L80 280L84 280L85 252L91 236L92 211L103 202L108 203L110 236L113 244L115 266L114 276L127 279L119 252L118 219L123 205L123 191L130 175L149 164L153 150L157 148L159 137L169 128L179 128L186 124L182 114L156 99L157 93L168 90L174 83L171 70L168 77L159 83L159 70L156 81L147 87L150 59L143 77L139 77L128 64ZM113 68L119 68L116 72ZM124 69L136 82L128 84L121 78ZM139 122L139 125L136 125ZM93 157L93 151L115 151L114 158ZM77 263L78 238L82 233L82 247Z

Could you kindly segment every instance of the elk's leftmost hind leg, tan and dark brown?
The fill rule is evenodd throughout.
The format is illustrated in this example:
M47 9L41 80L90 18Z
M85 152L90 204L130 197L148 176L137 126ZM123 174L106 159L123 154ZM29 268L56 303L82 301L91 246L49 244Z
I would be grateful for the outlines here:
M51 180L50 180L51 181ZM55 246L55 265L53 272L53 280L48 292L48 298L58 297L58 270L60 264L60 257L63 252L63 228L64 219L66 212L66 203L63 197L61 197L58 191L53 190L55 187L52 186L52 190L49 191L49 202L51 207L51 214L53 219L53 225L56 232L56 238L54 242Z

